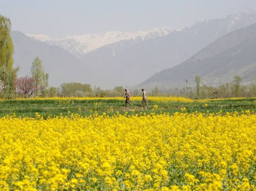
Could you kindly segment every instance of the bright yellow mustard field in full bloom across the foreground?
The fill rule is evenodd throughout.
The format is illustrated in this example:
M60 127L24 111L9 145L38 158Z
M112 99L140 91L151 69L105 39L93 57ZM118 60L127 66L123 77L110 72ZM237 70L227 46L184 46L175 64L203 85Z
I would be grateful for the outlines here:
M255 107L254 99L228 103L244 101L241 109ZM158 105L126 111L119 101L97 100L71 103L83 106L76 113L0 117L0 190L255 190L253 110L212 112L215 101L149 103ZM168 104L177 111L166 112ZM205 112L188 112L193 106Z

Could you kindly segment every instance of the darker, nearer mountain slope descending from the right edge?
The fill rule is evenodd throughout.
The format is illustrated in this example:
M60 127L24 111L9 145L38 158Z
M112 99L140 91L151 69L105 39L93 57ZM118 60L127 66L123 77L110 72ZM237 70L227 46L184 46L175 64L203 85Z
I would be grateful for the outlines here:
M202 84L219 85L241 76L243 83L256 76L256 24L233 31L188 60L161 71L144 81L143 86L180 86L188 79L194 84L199 75Z

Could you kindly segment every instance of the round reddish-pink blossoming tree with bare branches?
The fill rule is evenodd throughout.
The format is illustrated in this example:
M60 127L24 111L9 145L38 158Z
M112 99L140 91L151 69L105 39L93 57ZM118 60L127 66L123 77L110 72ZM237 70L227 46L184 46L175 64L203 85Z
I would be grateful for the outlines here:
M15 87L22 97L30 97L37 90L36 80L28 76L16 79Z

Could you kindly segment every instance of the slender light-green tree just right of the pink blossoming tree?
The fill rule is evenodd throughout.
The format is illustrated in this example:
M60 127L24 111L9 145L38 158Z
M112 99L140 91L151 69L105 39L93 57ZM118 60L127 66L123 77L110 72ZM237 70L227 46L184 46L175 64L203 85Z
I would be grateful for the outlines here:
M38 89L40 86L42 86L43 78L45 77L42 61L38 58L38 56L32 62L31 75L32 75L32 78L36 80L36 87L37 87L36 96L37 96Z

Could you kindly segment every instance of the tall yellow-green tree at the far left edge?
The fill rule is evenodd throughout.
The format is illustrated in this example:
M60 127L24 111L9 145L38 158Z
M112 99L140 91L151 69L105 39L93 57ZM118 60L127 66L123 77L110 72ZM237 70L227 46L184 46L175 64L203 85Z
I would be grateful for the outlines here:
M11 94L19 68L13 68L14 46L11 37L11 20L0 15L0 79L4 84L4 93Z

